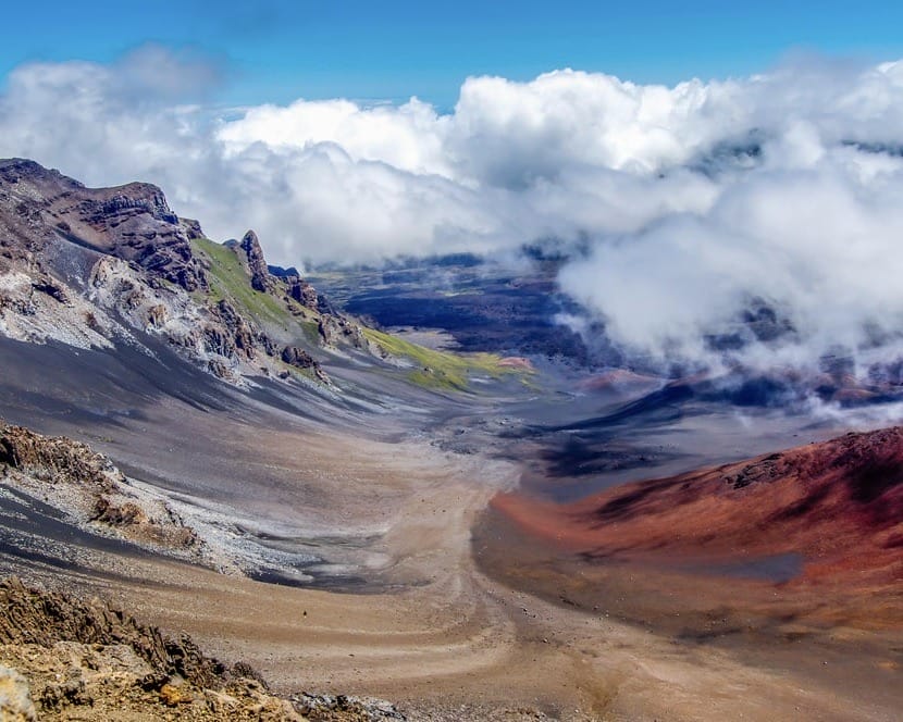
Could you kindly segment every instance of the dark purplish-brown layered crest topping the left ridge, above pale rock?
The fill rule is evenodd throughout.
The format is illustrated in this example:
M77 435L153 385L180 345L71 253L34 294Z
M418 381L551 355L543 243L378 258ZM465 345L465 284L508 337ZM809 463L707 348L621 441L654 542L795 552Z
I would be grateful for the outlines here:
M147 183L86 188L34 161L0 161L0 253L25 257L59 235L131 261L186 290L207 288L188 233Z

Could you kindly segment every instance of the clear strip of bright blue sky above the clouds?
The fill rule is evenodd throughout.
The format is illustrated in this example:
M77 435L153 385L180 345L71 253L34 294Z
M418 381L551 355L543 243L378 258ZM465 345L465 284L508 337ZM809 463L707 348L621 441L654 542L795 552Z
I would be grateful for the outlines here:
M0 74L35 60L109 62L146 42L219 65L219 102L299 97L450 108L469 75L571 66L673 84L765 71L788 53L903 57L903 3L188 0L8 3ZM793 4L794 7L788 7ZM13 32L9 32L12 29Z

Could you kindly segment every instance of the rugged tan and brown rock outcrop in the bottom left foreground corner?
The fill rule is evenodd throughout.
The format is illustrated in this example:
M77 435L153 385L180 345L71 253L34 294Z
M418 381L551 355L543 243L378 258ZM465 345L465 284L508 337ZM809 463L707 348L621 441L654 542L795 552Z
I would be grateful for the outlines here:
M94 599L0 583L3 720L404 720L386 702L272 694L244 663L206 656Z

